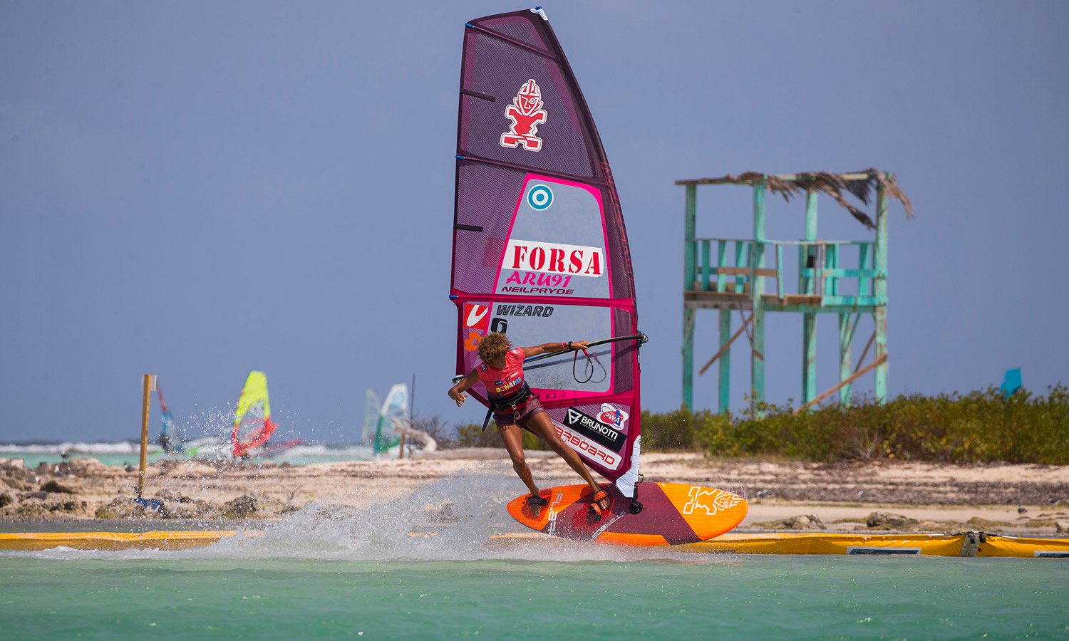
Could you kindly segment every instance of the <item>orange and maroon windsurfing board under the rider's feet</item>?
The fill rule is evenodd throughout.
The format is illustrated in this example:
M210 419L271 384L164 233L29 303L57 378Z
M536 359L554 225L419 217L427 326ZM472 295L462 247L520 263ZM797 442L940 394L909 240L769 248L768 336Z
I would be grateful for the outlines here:
M590 510L593 494L588 485L562 485L542 490L549 501L541 509L527 504L527 496L509 502L509 514L544 534L615 545L682 545L718 536L746 517L746 500L739 495L684 483L639 483L642 511L633 514L632 501L614 485L613 504L601 517Z

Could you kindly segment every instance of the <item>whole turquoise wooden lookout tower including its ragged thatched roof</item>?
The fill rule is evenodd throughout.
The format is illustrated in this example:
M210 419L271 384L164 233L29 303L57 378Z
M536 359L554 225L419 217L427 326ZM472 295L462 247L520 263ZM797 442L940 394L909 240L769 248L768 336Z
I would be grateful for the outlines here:
M718 411L729 407L731 343L746 333L750 343L750 407L764 401L764 313L803 315L802 407L839 393L850 402L851 384L876 370L873 391L879 403L887 400L887 203L901 201L908 217L910 201L898 189L895 175L874 169L833 174L810 172L770 175L756 172L721 178L676 181L686 188L685 257L683 277L683 404L694 407L694 326L698 310L719 311L719 350L699 371L718 362ZM754 190L753 238L696 238L695 219L699 185L748 185ZM806 196L805 235L801 240L770 240L764 234L766 191L785 200ZM868 204L876 191L876 221L851 205L845 193ZM847 208L876 237L871 240L823 240L817 233L817 196L826 193ZM797 283L785 282L784 253L797 260ZM853 259L853 260L851 260ZM794 271L794 270L791 270ZM772 281L771 283L769 281ZM792 291L793 290L793 291ZM739 310L742 326L732 332L731 314ZM817 394L817 314L832 313L839 320L839 382ZM857 365L852 366L851 342L862 314L872 314L876 329ZM872 345L872 360L862 365Z

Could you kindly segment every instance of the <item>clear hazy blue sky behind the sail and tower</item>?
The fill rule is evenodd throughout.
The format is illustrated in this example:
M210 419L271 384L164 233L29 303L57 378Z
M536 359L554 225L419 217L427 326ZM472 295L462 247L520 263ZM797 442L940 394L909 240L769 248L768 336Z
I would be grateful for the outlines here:
M979 389L1011 366L1040 392L1069 381L1069 4L545 7L619 188L649 408L681 397L672 183L743 171L898 175L916 219L892 205L893 394ZM136 437L143 373L193 433L226 425L253 369L280 429L308 440L354 441L365 391L413 374L419 412L480 421L446 396L461 38L516 9L0 4L0 441ZM750 234L746 188L698 198L699 236ZM822 238L868 238L820 206ZM803 214L770 198L768 235L800 238ZM835 317L818 331L823 390ZM800 395L801 333L770 315L772 402ZM700 365L715 314L697 338ZM733 364L741 407L744 350ZM695 396L715 406L714 371Z

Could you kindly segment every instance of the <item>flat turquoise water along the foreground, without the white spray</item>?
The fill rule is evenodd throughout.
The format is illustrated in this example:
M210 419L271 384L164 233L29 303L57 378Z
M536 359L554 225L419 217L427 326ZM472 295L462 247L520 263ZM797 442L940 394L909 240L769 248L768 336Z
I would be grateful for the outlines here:
M600 554L599 554L600 556ZM0 559L7 639L1066 639L1058 561Z

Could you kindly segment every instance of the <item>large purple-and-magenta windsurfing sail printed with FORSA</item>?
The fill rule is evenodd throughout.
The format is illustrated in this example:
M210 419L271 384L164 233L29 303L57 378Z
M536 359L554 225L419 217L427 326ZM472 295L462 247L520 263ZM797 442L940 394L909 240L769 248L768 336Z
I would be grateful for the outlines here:
M465 25L452 281L456 371L487 332L516 346L600 341L525 366L557 432L636 498L635 286L620 200L583 93L541 9ZM484 405L481 382L470 389Z

